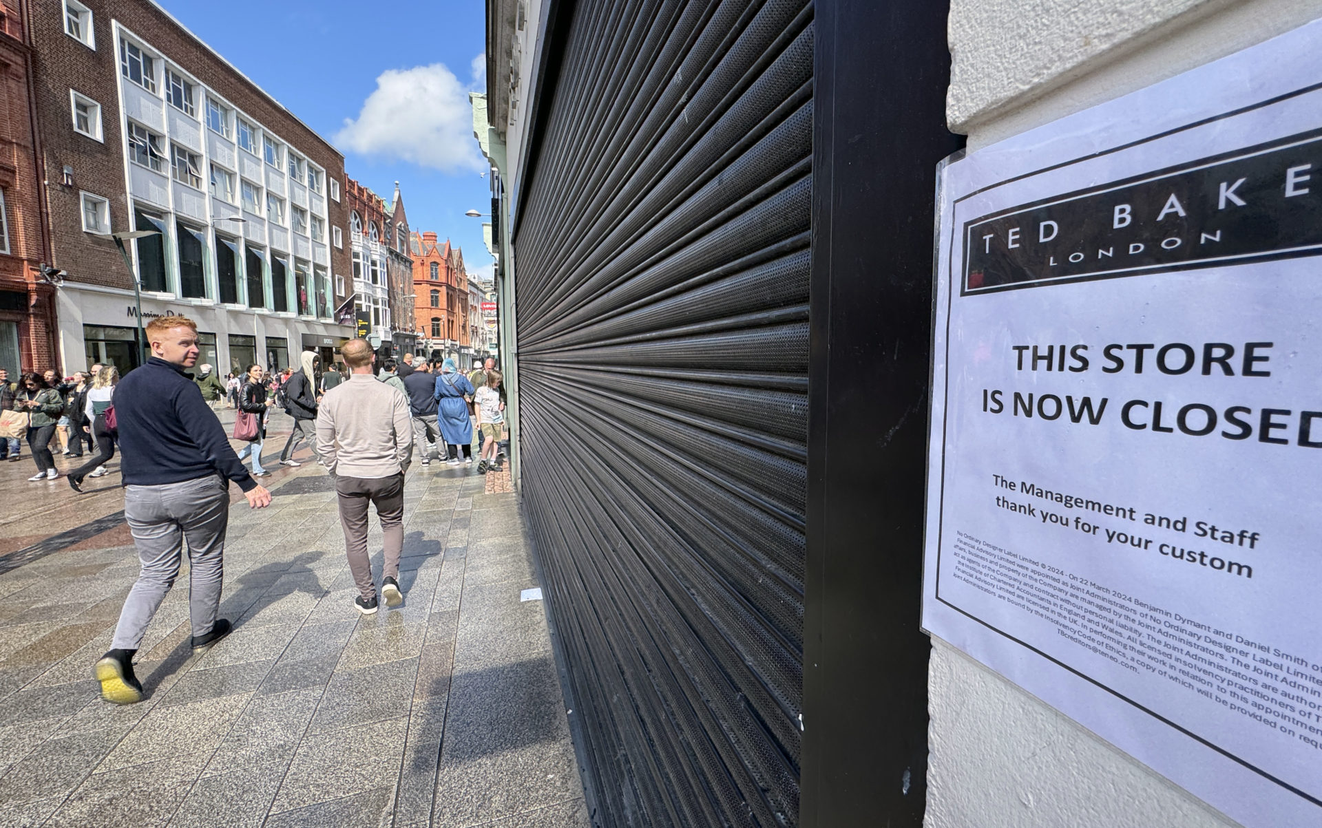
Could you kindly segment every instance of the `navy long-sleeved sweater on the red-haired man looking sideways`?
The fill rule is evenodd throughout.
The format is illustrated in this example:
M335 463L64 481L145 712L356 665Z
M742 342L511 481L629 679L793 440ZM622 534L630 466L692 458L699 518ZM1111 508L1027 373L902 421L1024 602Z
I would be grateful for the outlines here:
M152 357L124 375L115 388L115 420L126 486L221 474L243 491L256 487L197 383L164 359Z

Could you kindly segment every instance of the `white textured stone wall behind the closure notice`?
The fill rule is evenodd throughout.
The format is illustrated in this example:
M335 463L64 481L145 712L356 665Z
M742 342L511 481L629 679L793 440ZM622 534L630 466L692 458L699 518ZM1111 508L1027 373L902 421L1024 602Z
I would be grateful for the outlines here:
M1322 0L952 0L947 119L969 149L1322 17ZM940 639L928 828L1237 823Z

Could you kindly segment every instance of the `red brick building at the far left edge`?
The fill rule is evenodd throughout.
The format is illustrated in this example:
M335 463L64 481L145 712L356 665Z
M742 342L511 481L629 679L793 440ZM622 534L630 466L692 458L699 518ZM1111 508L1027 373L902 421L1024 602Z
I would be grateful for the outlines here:
M0 1L0 368L54 367L54 288L33 129L32 41L17 0Z

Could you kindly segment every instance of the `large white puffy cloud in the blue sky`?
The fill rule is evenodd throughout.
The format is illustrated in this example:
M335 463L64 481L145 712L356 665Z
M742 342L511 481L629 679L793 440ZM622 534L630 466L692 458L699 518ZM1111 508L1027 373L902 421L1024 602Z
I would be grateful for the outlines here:
M488 165L473 137L468 91L444 63L386 70L358 118L344 120L334 143L358 155L410 161L446 173L484 172Z

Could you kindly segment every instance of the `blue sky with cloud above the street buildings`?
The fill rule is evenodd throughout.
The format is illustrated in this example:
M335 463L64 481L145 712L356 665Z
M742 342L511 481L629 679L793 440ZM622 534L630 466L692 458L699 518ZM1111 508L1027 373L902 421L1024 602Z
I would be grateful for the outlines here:
M490 190L472 137L469 90L485 91L481 0L266 0L264 21L214 0L157 0L239 71L336 145L345 172L389 199L399 181L408 223L489 272L481 222ZM476 74L475 74L476 73Z

